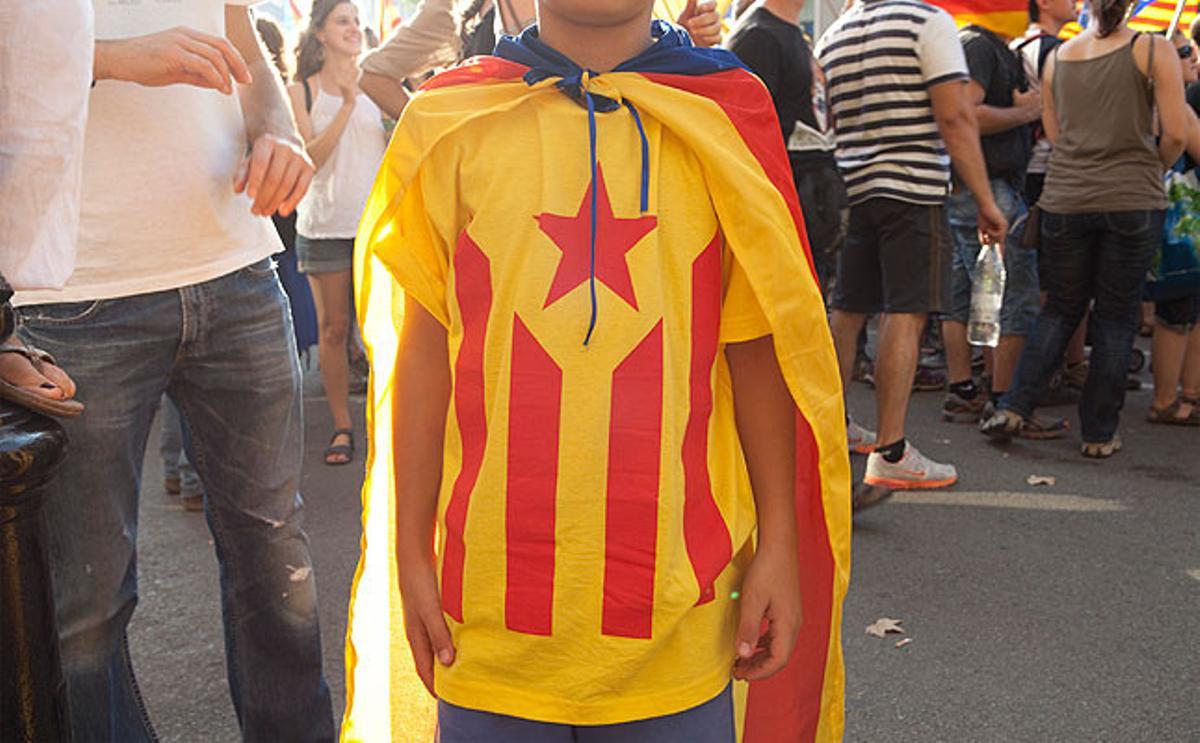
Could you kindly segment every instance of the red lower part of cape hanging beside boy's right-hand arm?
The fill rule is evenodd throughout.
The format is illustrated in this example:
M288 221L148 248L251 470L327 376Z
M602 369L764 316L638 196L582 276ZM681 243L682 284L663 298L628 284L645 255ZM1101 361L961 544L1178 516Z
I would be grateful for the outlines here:
M815 741L829 658L833 612L833 551L821 498L817 444L809 423L796 412L796 528L799 540L804 619L787 666L750 684L743 743L772 743L780 730L794 741Z

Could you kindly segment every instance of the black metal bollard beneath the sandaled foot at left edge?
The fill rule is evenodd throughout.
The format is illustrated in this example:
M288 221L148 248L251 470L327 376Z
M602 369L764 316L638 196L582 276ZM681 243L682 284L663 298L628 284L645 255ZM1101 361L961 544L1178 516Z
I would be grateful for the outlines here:
M43 485L66 450L54 420L0 401L0 741L70 741Z

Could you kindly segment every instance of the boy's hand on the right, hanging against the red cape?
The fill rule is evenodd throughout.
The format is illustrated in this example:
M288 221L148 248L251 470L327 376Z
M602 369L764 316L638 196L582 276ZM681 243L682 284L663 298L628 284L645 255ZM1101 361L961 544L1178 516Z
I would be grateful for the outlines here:
M734 678L760 681L787 665L802 617L796 559L794 545L768 546L750 563L742 582Z

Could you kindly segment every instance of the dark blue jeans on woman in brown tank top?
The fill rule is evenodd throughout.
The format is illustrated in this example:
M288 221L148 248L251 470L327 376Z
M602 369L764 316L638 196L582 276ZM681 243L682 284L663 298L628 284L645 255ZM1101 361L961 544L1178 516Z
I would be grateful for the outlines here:
M1141 317L1141 289L1159 242L1163 210L1042 212L1042 286L1046 301L997 406L1033 414L1062 362L1067 342L1094 300L1092 355L1079 402L1085 443L1112 439L1124 406L1129 356Z

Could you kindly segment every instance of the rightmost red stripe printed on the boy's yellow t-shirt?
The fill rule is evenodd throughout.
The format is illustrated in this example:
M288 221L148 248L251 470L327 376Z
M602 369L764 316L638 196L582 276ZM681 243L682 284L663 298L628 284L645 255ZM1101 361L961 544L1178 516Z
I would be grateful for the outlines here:
M714 598L713 583L733 556L730 531L713 499L708 473L708 421L713 414L713 364L721 322L721 239L715 235L691 269L691 379L683 438L683 532L700 600Z

